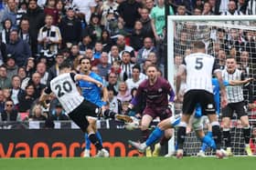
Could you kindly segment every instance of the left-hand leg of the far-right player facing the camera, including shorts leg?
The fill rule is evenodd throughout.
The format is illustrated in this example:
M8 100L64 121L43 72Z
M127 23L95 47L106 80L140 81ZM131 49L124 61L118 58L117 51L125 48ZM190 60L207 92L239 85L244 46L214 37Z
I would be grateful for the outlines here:
M222 109L222 125L223 125L223 141L226 147L227 155L231 156L231 136L230 136L230 120L233 115L234 110L232 105L228 104Z

